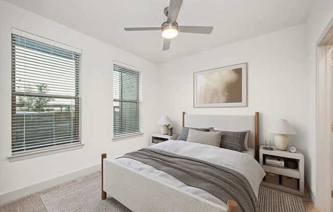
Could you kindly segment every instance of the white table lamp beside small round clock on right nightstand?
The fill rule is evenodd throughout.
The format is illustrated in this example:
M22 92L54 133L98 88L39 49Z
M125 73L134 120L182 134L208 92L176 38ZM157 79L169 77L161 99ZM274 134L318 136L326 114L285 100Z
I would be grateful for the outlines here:
M279 119L270 129L270 133L275 133L274 145L279 150L287 150L289 147L289 138L286 135L296 134L294 128L286 119Z

